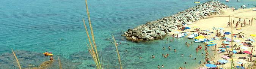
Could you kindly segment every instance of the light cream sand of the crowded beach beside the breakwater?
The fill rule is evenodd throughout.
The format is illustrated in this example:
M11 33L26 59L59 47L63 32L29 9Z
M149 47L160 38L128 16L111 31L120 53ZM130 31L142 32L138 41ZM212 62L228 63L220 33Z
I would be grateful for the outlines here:
M195 28L193 27L198 27L200 28L200 30L210 30L210 31L203 31L205 33L209 33L209 32L216 32L215 30L213 30L212 28L213 27L216 27L216 28L224 28L224 31L225 32L231 32L231 27L228 27L228 22L229 22L229 15L231 17L231 21L232 21L232 26L233 26L233 34L238 34L239 32L242 32L240 33L241 35L245 36L244 38L240 38L240 37L236 37L236 39L240 40L240 43L241 42L248 42L248 41L245 41L246 39L248 38L253 38L255 39L255 37L252 37L250 36L250 34L255 34L256 33L256 20L253 20L253 24L251 25L251 19L252 17L256 17L256 11L254 11L253 9L255 8L250 8L250 9L239 9L239 10L234 10L234 12L232 11L232 9L222 9L222 13L221 14L216 14L216 15L210 15L209 17L207 17L206 19L202 19L202 20L199 20L199 21L196 21L194 22L193 24L191 25L188 25L188 27L191 27L191 29L188 29L188 30L185 30L185 31L193 31L195 30ZM245 22L247 23L245 26L242 25L241 27L241 24L239 24L237 27L236 27L236 22L239 21L239 18L241 18L241 21L240 23L243 23L243 20L245 19ZM233 20L235 21L234 24L233 24ZM248 21L250 20L250 25L248 24ZM236 30L236 28L242 28L242 30ZM175 30L177 31L177 30ZM174 31L174 32L175 32ZM191 33L195 33L195 32L190 32L188 35L190 35ZM172 33L173 34L173 33ZM211 39L215 36L216 34L210 34L210 35L207 35L206 38L208 39ZM221 35L222 36L222 35ZM237 35L238 36L238 35ZM226 36L228 38L231 38L231 34L229 34L228 36ZM216 37L216 38L220 38L220 37ZM235 38L233 37L233 40L235 40ZM222 45L221 45L221 40L214 40L217 44L217 49L220 48ZM236 44L236 43L239 43L239 42L233 42L233 44ZM255 45L256 43L253 42L252 45ZM231 46L231 42L229 44L229 46ZM241 46L240 46L241 47ZM250 51L251 52L251 49L253 47L248 47L246 46L248 49L247 50L244 50L244 49L240 49L241 51ZM224 54L227 54L227 52L223 52L223 53L219 53L218 51L215 51L215 47L214 46L210 46L211 49L208 49L208 51L214 51L214 56L213 55L210 55L213 57L215 63L218 61L218 60L222 60L223 58L221 58L220 56L221 55L224 55ZM234 48L238 48L237 47L234 47ZM237 52L239 52L240 50L236 50ZM253 55L255 55L255 48L254 48L254 51L253 51ZM234 63L235 63L235 66L240 66L240 64L237 64L236 62L239 61L239 57L247 57L247 59L244 59L244 60L248 60L248 58L250 58L249 54L234 54ZM254 60L254 58L256 57L253 57L252 59ZM202 61L202 62L205 62L205 61ZM245 67L247 67L251 62L248 62L244 65ZM213 64L213 63L212 63ZM205 67L205 64L202 64L199 68L201 67ZM230 68L231 65L230 65L230 60L228 63L224 64L224 65L218 65L218 67L220 68L223 68L223 69L226 69L226 68Z

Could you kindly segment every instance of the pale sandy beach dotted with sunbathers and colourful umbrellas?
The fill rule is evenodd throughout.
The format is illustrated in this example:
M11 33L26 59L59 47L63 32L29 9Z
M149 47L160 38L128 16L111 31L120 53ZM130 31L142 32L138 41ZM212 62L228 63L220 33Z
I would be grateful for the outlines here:
M217 15L210 15L210 16L208 16L207 18L205 18L205 19L202 19L202 20L199 20L199 21L195 21L193 24L191 24L191 25L188 25L188 27L191 27L191 29L187 29L187 30L185 30L185 31L193 31L192 29L192 27L199 27L201 30L211 30L212 31L212 27L216 27L216 28L219 28L219 27L222 27L222 28L225 28L225 32L226 31L231 31L231 29L230 29L230 27L227 27L227 23L228 23L228 21L229 21L229 17L228 17L228 15L230 15L231 16L231 19L232 20L235 20L235 23L236 23L236 21L239 19L239 18L241 18L242 20L241 21L243 21L243 19L245 19L245 21L247 22L248 20L251 20L251 18L252 17L256 17L256 14L253 14L253 13L256 13L256 11L253 11L252 9L256 9L256 8L248 8L248 9L239 9L239 10L234 10L234 12L232 12L232 9L221 9L221 12L223 12L222 14L217 14ZM231 20L231 21L232 21ZM242 28L245 28L245 30L247 30L247 31L245 31L245 30L242 30L242 31L239 31L239 32L243 32L243 33L247 33L247 34L245 34L245 36L246 37L250 37L249 36L249 34L255 34L256 33L256 31L252 31L252 30L250 30L250 27L255 27L256 26L256 20L255 19L253 19L254 20L254 22L253 22L253 25L252 26L249 26L249 25L247 25L247 26L245 26L245 27L242 27ZM247 24L248 24L248 22L247 22ZM232 26L235 26L235 24L232 24ZM238 27L240 27L240 25L238 25ZM256 29L254 29L254 30L256 30ZM175 31L180 31L180 30L173 30L174 32ZM171 32L169 35L171 35L171 34L175 34L174 32ZM206 32L206 31L204 31L204 32ZM214 32L214 31L213 31ZM233 32L234 33L238 33L237 32L237 30L236 30L236 27L233 27ZM193 32L190 32L189 33L189 35L191 34L191 33L193 33ZM249 33L249 34L248 34ZM214 34L215 35L215 34ZM185 37L187 37L187 36L185 36ZM211 35L207 35L207 37L206 38L212 38L212 37L214 37L212 34ZM231 37L230 35L228 35L227 37ZM219 38L219 37L216 37L216 38ZM238 39L238 38L237 38ZM239 40L241 40L241 39L239 39ZM214 40L216 43L217 43L217 48L219 48L219 47L221 47L221 41L220 40ZM241 42L246 42L245 40L241 40ZM234 44L236 44L236 42L233 42ZM255 43L253 43L253 45L255 45ZM218 61L218 60L220 60L220 59L222 59L220 56L221 55L223 55L224 53L218 53L217 51L215 51L215 48L214 48L214 46L210 46L210 50L211 51L213 51L213 56L211 55L211 57L213 58L213 60L215 61L215 63ZM237 47L236 47L237 48ZM246 51L250 51L251 50L251 48L250 47L248 47L249 49L248 50L246 50ZM208 49L208 51L210 51L209 49ZM237 50L237 51L239 51L239 50ZM245 51L245 50L244 50ZM255 52L255 51L254 51ZM238 59L238 57L242 57L242 56L244 56L244 55L246 55L246 54L242 54L242 55L240 55L240 54L234 54L234 59ZM248 58L248 57L247 57ZM253 59L254 59L255 57L253 57ZM211 60L211 59L210 59ZM238 59L239 60L239 59ZM247 60L247 59L245 59L245 60ZM212 60L211 60L212 61ZM205 62L205 61L202 61L202 62ZM240 66L240 65L237 65L236 64L236 61L234 61L234 63L235 63L235 66ZM248 66L248 64L250 64L250 62L247 62L247 65L244 65L245 67L247 67ZM205 64L204 63L202 63L201 65L198 65L197 66L198 68L201 68L201 67L205 67L205 68L207 68L206 66L205 66ZM218 65L218 67L220 67L220 68L230 68L231 67L231 65L230 65L230 61L228 62L228 63L226 63L225 65Z

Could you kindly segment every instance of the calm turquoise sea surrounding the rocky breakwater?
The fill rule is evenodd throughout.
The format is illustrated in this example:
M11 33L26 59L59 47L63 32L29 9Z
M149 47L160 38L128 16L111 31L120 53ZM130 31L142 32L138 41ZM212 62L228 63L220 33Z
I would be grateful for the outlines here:
M202 43L187 38L165 37L163 40L130 42L121 36L128 28L173 15L209 0L88 0L91 22L104 67L118 69L115 45L110 43L112 34L117 42L124 69L194 69L204 60L203 50L195 52ZM230 0L228 6L256 6L255 0ZM42 52L60 56L63 69L94 69L94 62L87 51L88 43L82 18L87 19L84 0L1 0L0 1L0 69L17 69L11 48L16 51L22 68L33 68L49 60ZM88 22L87 22L88 23ZM166 39L173 39L173 42ZM63 40L60 40L63 39ZM162 50L165 46L165 50ZM171 51L168 50L171 46ZM177 49L174 52L173 49ZM170 54L163 58L162 54ZM181 57L184 54L184 57ZM192 57L188 57L192 54ZM205 53L204 53L205 54ZM212 52L210 52L212 54ZM150 58L155 55L155 58ZM139 57L142 57L139 59ZM197 58L197 60L193 60ZM184 64L187 62L187 64ZM55 61L47 69L58 69Z

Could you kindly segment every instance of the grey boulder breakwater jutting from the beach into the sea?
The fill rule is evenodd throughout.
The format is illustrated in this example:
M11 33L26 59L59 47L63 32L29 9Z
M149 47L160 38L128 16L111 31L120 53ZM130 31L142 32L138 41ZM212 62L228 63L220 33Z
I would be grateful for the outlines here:
M130 28L122 36L127 40L139 42L142 40L163 39L172 30L178 29L182 24L192 24L194 21L204 19L212 14L220 14L223 7L227 7L220 1L208 1L175 15L164 17L159 20L147 22L135 28Z

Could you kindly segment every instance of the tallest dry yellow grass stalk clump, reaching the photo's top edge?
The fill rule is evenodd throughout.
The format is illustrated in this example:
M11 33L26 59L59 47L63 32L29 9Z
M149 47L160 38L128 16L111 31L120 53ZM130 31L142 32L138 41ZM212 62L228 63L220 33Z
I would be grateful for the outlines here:
M89 45L87 43L86 44L88 46L88 51L91 54L91 56L93 57L93 60L96 64L96 68L97 69L103 69L102 64L100 62L101 60L99 60L99 55L98 55L98 52L97 52L97 45L96 45L95 39L94 39L93 27L91 26L90 13L89 13L89 10L88 10L87 0L85 0L85 5L86 5L87 16L88 16L88 22L89 22L89 26L90 26L90 30L91 30L91 37L92 37L92 40L93 40L93 43L92 43L90 35L89 35L87 27L86 27L86 24L85 24L85 20L83 19L83 24L85 26L86 34L87 34L87 37L88 37L91 48L89 47Z

